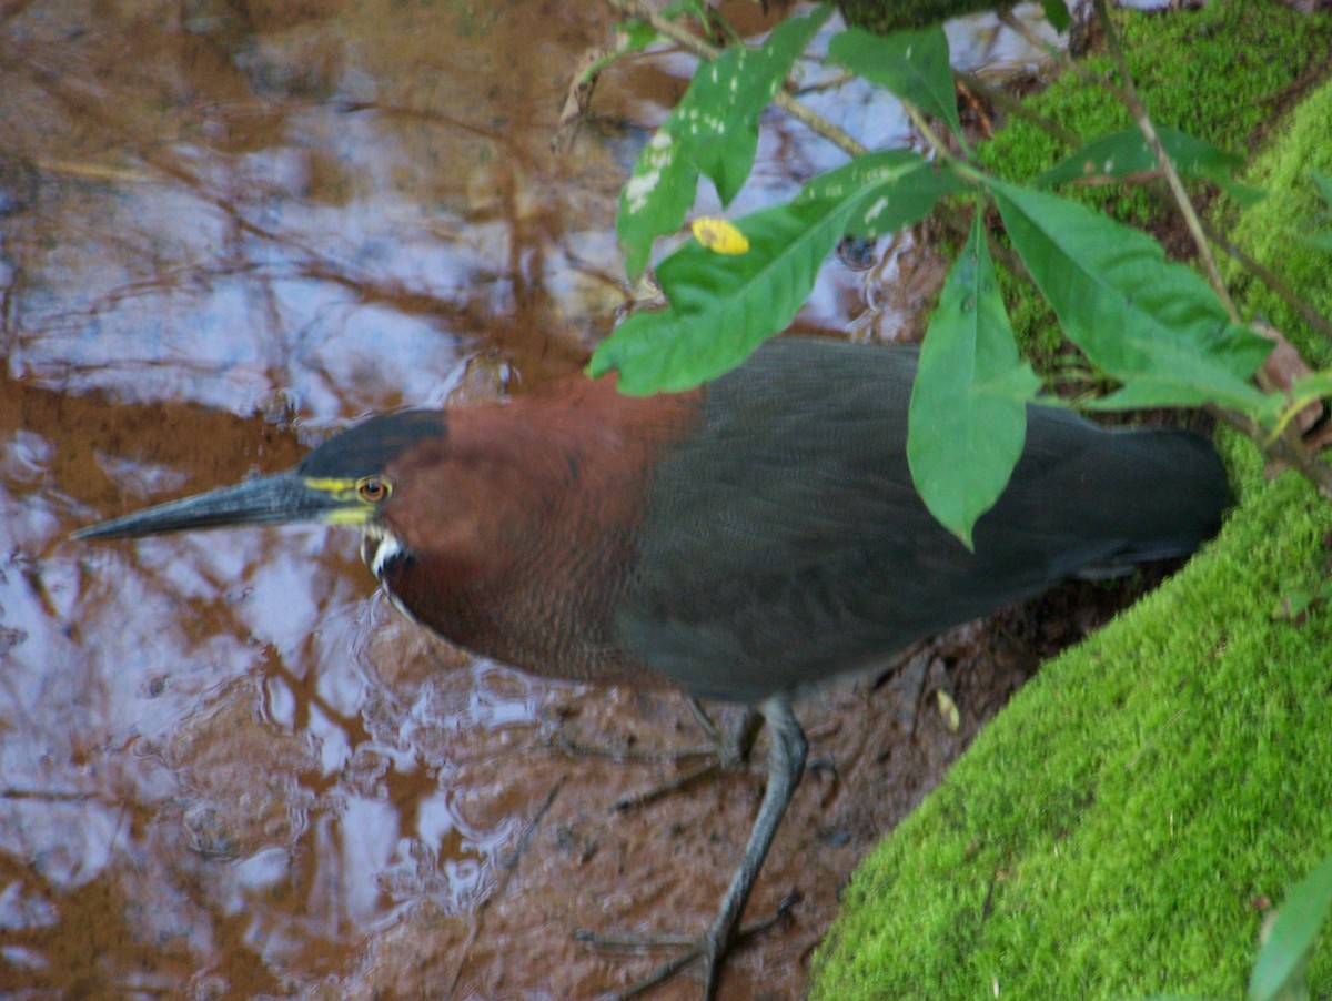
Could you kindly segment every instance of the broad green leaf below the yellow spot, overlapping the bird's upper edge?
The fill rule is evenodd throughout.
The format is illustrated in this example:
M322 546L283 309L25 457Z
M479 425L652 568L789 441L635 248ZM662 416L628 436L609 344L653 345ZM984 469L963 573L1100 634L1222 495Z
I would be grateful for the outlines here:
M622 393L691 389L735 367L786 327L863 192L778 205L735 225L750 250L735 257L690 241L657 268L670 306L634 313L602 341L589 375L619 370Z

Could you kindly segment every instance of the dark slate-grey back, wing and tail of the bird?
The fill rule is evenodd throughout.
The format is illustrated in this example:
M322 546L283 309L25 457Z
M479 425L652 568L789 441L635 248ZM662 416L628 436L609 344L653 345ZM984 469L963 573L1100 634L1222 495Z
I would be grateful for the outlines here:
M867 667L1091 566L1192 552L1227 503L1211 445L1028 409L975 552L915 493L915 351L779 339L711 383L653 469L617 642L686 690L754 701Z

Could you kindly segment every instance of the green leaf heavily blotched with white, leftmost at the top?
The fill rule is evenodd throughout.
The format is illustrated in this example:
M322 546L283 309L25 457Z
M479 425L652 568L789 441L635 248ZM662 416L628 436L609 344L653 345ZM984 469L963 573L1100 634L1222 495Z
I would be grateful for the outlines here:
M699 64L619 196L615 232L631 277L647 268L653 241L685 221L699 173L713 181L723 204L735 197L754 166L759 113L831 12L825 4L807 17L790 17L759 48L741 45Z

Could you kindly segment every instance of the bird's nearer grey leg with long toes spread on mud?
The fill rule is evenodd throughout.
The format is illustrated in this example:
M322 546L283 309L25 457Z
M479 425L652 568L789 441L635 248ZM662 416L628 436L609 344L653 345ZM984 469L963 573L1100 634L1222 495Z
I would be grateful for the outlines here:
M607 948L625 948L631 942L637 946L673 946L683 948L685 952L670 962L662 964L649 977L622 992L617 997L635 997L658 984L665 984L681 970L695 962L703 968L703 998L711 998L717 990L717 973L727 949L739 937L738 926L741 913L749 900L754 881L758 879L763 859L773 844L778 824L786 813L786 807L791 801L795 787L799 785L801 775L805 772L805 756L807 745L805 732L801 729L795 713L791 711L791 696L787 694L774 695L759 705L761 719L767 721L771 749L767 759L767 788L763 792L763 803L759 805L758 817L750 832L745 853L735 868L726 896L722 897L717 916L707 930L694 940L675 937L661 938L609 938L586 932L579 932L578 938L593 945Z

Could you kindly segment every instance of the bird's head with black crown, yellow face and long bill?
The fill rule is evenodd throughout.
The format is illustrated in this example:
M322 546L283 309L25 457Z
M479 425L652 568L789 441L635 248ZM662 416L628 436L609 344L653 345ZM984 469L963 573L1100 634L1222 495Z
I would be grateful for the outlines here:
M294 469L80 528L75 539L131 539L192 528L318 522L377 535L394 490L394 461L445 435L438 411L376 417L317 447Z

